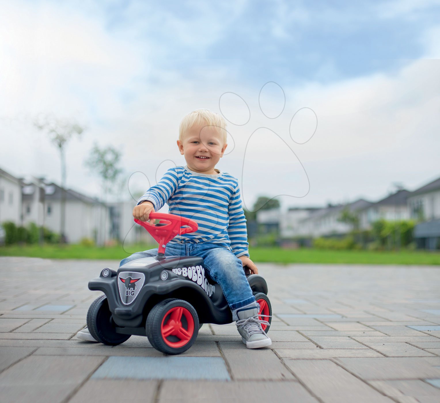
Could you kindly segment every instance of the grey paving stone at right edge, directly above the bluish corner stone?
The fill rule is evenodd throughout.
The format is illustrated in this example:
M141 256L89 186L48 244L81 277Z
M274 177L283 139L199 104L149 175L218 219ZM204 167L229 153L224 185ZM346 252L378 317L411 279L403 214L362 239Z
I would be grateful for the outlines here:
M440 377L440 370L423 358L335 358L349 372L365 380Z

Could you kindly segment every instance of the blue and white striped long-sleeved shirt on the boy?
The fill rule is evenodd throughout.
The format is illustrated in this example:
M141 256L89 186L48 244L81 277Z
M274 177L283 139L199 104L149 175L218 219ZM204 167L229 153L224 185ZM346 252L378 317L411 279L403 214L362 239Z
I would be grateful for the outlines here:
M177 166L165 172L155 186L139 198L150 201L154 211L166 203L169 214L190 218L198 224L196 232L176 235L170 243L224 242L235 256L249 257L246 218L242 208L238 180L220 172L198 173L188 166Z

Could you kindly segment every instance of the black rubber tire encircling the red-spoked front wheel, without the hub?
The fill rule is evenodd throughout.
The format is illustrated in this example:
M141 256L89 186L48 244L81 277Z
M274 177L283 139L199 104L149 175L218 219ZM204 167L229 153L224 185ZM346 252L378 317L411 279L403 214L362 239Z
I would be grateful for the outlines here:
M165 315L170 309L176 307L186 308L191 314L192 319L194 321L193 334L191 335L190 340L181 347L169 346L165 342L161 332L162 321L165 319ZM186 322L186 318L185 318L185 322ZM186 325L189 326L187 322ZM194 341L197 338L198 330L199 330L198 315L196 310L193 308L193 306L187 301L180 300L177 298L169 298L159 302L151 309L150 313L147 316L147 323L145 327L147 330L148 340L156 350L169 355L181 354L187 351L194 344Z

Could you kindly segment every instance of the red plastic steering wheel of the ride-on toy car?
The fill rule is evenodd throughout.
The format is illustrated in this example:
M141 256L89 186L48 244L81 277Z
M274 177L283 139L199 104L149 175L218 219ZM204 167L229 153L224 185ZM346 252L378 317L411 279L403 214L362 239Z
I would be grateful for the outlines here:
M147 221L141 221L135 218L135 223L142 225L151 236L159 243L159 253L165 254L165 245L172 240L176 235L187 234L188 232L195 232L198 225L194 220L189 218L177 216L176 214L168 214L164 212L150 212L150 220L160 220L158 224L154 225ZM165 224L165 225L164 225ZM187 225L188 227L183 227Z

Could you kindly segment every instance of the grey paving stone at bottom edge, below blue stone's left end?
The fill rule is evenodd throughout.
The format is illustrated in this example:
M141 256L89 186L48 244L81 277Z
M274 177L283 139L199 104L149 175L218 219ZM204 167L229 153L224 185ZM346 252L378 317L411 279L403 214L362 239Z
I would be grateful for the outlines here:
M90 379L69 400L69 403L153 403L157 385L158 381Z

